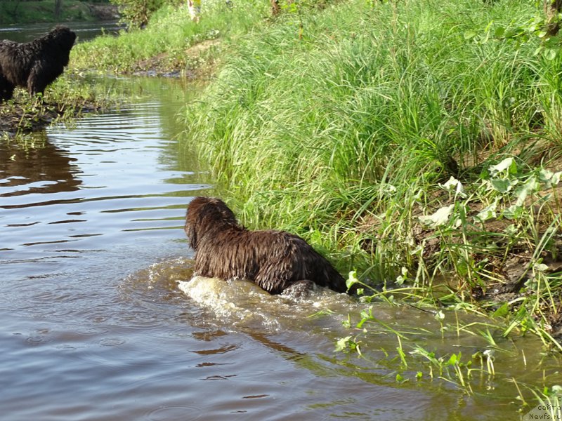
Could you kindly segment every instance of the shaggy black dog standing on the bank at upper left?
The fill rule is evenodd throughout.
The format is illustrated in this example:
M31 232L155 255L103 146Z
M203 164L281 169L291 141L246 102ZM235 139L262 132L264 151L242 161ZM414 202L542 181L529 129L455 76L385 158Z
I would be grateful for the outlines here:
M0 41L0 101L11 99L15 86L43 93L63 73L75 40L74 32L58 26L31 42Z

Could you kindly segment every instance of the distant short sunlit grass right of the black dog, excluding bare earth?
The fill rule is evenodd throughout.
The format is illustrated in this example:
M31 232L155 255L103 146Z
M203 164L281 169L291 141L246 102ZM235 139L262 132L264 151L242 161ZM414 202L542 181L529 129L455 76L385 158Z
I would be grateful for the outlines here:
M143 60L158 58L169 69L189 67L188 48L202 41L240 36L249 32L260 19L264 8L257 0L234 2L204 1L203 18L190 19L185 2L164 6L150 18L145 29L122 31L119 36L98 36L93 41L77 44L70 63L79 70L132 72Z

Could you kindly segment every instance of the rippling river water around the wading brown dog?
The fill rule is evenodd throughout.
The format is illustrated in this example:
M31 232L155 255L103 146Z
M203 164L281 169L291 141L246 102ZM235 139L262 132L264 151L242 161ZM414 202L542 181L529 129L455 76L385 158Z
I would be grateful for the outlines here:
M538 340L490 328L496 375L476 373L468 392L410 352L468 361L494 347L462 329L442 334L431 312L373 305L381 323L412 333L405 366L388 329L362 339L365 359L334 352L338 338L360 333L342 321L367 307L346 295L294 301L192 279L185 206L211 190L176 140L175 115L197 88L103 83L130 104L0 140L2 419L505 420L521 408L509 379L526 396L525 385L560 380Z

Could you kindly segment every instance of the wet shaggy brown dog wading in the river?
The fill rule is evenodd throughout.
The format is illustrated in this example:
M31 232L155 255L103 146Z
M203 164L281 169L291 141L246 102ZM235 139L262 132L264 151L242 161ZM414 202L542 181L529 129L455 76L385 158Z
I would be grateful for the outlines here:
M195 250L195 273L247 279L272 294L327 286L346 292L346 281L301 237L289 232L250 231L221 201L196 197L185 216L185 234ZM287 291L286 291L287 292Z

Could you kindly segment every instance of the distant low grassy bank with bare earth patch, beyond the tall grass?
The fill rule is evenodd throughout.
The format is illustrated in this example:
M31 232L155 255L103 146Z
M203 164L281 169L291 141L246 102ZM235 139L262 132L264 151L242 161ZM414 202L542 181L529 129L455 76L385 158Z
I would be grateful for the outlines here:
M259 1L230 7L224 1L204 2L205 18L192 22L185 6L165 6L145 29L122 32L119 37L99 36L79 44L72 52L76 69L112 73L209 74L221 57L218 40L242 38L265 13Z

